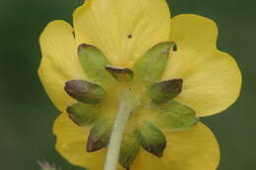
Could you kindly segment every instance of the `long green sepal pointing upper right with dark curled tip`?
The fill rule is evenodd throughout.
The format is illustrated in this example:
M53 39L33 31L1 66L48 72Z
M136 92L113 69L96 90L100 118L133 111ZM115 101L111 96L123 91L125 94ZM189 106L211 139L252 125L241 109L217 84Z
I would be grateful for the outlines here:
M169 51L173 46L175 46L173 41L166 41L148 50L133 66L135 79L142 80L146 85L160 81Z

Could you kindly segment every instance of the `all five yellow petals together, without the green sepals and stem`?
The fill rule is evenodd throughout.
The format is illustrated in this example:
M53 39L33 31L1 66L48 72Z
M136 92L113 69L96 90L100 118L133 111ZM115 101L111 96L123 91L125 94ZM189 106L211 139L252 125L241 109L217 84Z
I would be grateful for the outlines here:
M196 15L170 19L164 0L88 0L74 13L74 28L50 23L40 36L38 74L47 94L63 112L55 121L56 149L72 164L101 170L106 149L86 151L91 128L78 126L66 113L77 101L64 89L71 80L89 80L78 57L82 43L100 49L111 65L132 68L154 45L174 41L161 81L182 79L175 100L194 109L198 117L224 111L239 95L241 74L235 61L216 47L216 24ZM117 86L118 88L118 86ZM114 91L114 90L112 90ZM106 112L113 112L111 103ZM113 114L112 114L113 115ZM214 170L220 161L218 142L202 123L183 131L165 131L162 157L140 149L132 170ZM118 165L118 170L123 169Z

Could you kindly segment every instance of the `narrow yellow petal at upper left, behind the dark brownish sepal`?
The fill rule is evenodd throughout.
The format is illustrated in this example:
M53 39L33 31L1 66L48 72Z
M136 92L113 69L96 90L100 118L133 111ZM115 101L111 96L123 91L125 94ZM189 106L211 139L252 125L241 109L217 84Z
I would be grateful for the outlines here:
M63 21L50 23L40 35L42 59L39 78L47 94L59 110L74 100L64 91L65 82L85 79L77 54L73 28Z

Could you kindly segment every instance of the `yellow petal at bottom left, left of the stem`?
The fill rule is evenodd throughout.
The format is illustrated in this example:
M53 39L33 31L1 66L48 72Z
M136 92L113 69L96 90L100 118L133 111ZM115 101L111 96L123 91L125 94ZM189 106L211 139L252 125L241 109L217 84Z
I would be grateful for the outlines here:
M105 158L105 149L87 152L89 127L77 126L67 113L62 113L55 121L53 133L57 136L56 149L70 163L89 170L101 170Z

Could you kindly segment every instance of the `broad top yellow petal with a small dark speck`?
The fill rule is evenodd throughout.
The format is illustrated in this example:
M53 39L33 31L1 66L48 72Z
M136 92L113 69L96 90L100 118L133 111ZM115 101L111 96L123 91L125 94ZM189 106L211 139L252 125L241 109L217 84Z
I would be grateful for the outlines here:
M88 0L74 13L80 43L94 44L115 66L128 67L168 39L165 0Z

